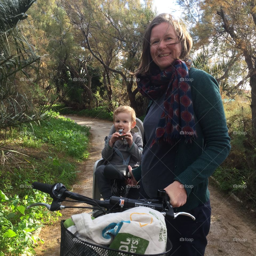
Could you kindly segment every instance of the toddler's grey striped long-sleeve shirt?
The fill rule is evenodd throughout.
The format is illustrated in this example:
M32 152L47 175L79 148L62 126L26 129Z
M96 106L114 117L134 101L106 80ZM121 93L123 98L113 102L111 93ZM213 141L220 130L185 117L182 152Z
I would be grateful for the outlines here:
M123 159L126 160L129 155L131 155L129 165L133 168L141 164L142 157L142 138L137 133L133 135L133 144L129 147L126 139L118 140L114 143L114 147L119 149ZM107 137L107 143L103 148L101 155L102 158L107 160L109 163L113 163L116 165L122 165L123 159L121 159L118 154L114 151L114 147L109 145L109 140L112 137L112 134Z

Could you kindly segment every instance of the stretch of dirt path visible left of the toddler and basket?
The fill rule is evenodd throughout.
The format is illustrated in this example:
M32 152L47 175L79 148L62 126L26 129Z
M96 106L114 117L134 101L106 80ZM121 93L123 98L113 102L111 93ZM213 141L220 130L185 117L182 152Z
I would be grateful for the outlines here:
M93 197L93 166L94 163L101 158L101 150L104 147L104 138L108 135L112 126L112 122L102 120L98 118L79 117L76 115L66 115L70 119L74 120L79 125L91 126L90 130L90 148L89 159L79 163L77 170L80 171L77 175L77 183L73 185L73 192L85 195L87 197ZM61 181L60 181L61 182ZM68 205L68 202L65 202ZM82 205L81 203L74 204L73 206ZM84 204L83 204L84 206ZM90 206L90 205L89 205ZM70 218L73 214L79 214L83 212L90 212L90 209L65 209L61 211L62 216L59 217L59 221L62 219ZM44 239L44 245L36 248L37 256L59 256L60 248L60 222L56 222L53 225L46 225L43 227L40 238Z

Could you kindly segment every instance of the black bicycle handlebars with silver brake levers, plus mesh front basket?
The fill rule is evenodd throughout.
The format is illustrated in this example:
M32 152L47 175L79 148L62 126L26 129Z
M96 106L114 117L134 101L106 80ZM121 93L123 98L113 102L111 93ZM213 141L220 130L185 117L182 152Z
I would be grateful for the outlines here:
M185 212L178 212L174 213L173 207L169 202L169 197L166 194L165 190L158 190L158 198L157 199L141 199L141 200L134 200L128 199L123 197L111 197L109 200L99 201L94 200L89 197L85 197L83 195L73 193L68 191L66 187L62 183L55 183L54 185L40 183L40 182L33 182L32 183L33 189L40 190L45 192L53 198L51 205L47 203L33 203L30 206L27 206L27 209L34 206L45 206L50 211L57 211L63 210L66 208L87 208L93 210L101 210L103 214L113 213L118 211L123 211L128 208L137 207L137 206L144 206L150 207L151 209L155 209L160 211L165 217L168 216L170 218L175 219L179 215L186 215L191 217L195 220L195 217L189 213ZM80 206L64 206L60 203L65 200L66 197L74 199L75 201L71 202L82 202L87 203L94 207L80 207ZM99 208L101 207L101 208ZM102 208L105 208L103 210ZM99 215L98 215L99 216ZM76 236L74 236L69 230L65 229L63 226L64 221L61 221L61 248L60 248L60 256L116 256L116 255L133 255L139 256L141 254L123 252L120 250L109 249L106 246L98 246L86 241L82 241ZM151 256L167 256L170 254L171 251L171 241L167 238L166 243L166 251L161 254L151 254Z

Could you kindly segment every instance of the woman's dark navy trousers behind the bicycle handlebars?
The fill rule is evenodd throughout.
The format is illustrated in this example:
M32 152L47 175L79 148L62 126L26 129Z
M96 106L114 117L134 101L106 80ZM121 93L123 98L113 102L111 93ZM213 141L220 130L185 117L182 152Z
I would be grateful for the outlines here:
M140 182L140 198L149 198ZM167 236L173 247L171 256L203 256L207 245L206 236L210 230L210 200L187 211L195 217L180 215L176 219L165 218Z

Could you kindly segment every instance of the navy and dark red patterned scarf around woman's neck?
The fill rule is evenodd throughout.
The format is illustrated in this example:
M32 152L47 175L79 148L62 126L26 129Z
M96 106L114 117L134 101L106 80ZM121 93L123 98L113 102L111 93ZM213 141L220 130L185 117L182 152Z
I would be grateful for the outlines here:
M165 93L164 111L150 147L161 141L174 145L182 136L186 143L191 143L197 133L187 63L176 60L151 76L138 75L136 81L139 92L148 99L157 99Z

